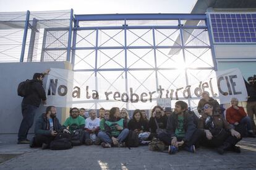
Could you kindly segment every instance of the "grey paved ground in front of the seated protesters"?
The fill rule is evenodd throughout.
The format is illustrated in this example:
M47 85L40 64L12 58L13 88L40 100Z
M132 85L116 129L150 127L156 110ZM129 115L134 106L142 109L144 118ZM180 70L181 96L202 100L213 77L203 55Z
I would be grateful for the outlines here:
M0 142L0 169L256 169L256 138L245 138L239 145L241 154L218 155L199 148L197 153L168 155L149 151L147 146L131 150L79 146L53 151Z

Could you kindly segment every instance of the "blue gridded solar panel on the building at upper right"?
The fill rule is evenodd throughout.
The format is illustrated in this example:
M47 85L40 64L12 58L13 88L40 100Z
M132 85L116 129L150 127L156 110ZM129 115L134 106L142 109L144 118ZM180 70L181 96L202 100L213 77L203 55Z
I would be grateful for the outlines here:
M256 14L210 13L214 43L256 43Z

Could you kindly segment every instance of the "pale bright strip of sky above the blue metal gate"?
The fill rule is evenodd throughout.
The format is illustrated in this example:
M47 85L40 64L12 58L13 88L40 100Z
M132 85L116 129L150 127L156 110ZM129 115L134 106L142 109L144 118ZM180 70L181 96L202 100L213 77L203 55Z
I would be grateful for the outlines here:
M0 0L0 12L56 11L74 14L190 13L197 0Z

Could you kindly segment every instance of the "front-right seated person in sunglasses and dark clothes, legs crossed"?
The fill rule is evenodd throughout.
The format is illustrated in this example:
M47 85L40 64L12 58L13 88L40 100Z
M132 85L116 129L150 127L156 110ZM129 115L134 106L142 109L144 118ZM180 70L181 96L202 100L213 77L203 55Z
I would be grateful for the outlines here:
M202 117L198 121L198 129L203 129L205 132L202 138L202 145L217 148L218 153L221 155L226 150L240 153L240 147L236 147L236 143L242 139L241 134L234 130L220 113L213 112L213 107L212 103L205 103Z

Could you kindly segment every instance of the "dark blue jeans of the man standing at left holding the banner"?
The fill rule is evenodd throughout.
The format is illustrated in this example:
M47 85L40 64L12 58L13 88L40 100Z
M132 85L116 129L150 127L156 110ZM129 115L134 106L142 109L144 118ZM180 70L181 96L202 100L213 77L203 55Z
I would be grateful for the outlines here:
M25 140L27 139L28 130L32 127L34 122L34 117L36 113L36 106L30 104L23 104L22 103L22 122L20 123L20 129L18 134L18 140Z

